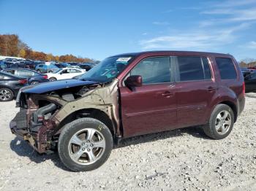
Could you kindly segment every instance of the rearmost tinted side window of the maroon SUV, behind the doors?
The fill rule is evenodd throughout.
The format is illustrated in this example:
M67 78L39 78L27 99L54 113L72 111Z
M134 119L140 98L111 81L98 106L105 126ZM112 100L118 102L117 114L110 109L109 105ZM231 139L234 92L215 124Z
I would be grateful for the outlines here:
M230 58L215 58L221 79L236 79L236 69Z

